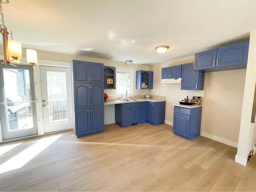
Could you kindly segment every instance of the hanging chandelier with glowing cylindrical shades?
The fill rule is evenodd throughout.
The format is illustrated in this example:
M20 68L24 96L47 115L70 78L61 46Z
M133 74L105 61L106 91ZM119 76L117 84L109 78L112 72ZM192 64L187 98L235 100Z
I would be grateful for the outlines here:
M22 44L12 39L12 31L9 33L4 22L3 3L9 3L8 0L0 0L0 15L1 25L0 33L3 35L3 46L4 46L4 59L0 60L0 64L3 65L17 65L20 63L19 59L22 58ZM8 40L8 35L11 35L11 39ZM37 52L32 49L27 49L27 62L31 65L37 63Z

